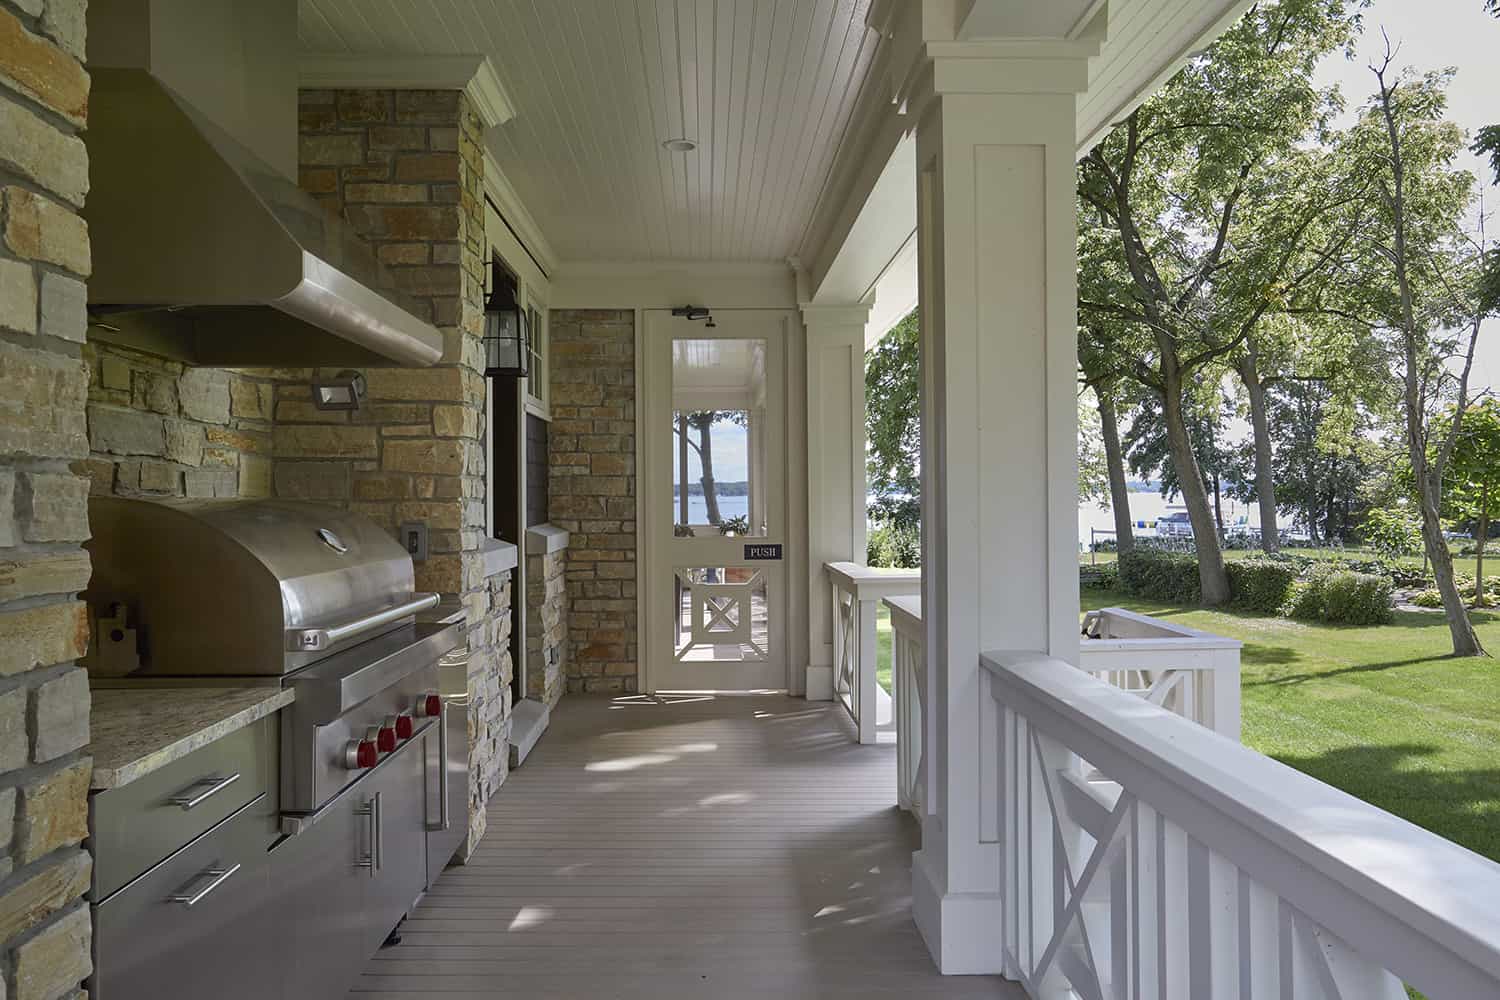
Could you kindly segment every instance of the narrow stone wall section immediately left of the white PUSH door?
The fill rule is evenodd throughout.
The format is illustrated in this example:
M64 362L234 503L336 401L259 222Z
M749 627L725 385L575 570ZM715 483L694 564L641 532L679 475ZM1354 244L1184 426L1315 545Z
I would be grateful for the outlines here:
M548 328L548 519L572 535L567 690L634 691L634 313L558 309Z

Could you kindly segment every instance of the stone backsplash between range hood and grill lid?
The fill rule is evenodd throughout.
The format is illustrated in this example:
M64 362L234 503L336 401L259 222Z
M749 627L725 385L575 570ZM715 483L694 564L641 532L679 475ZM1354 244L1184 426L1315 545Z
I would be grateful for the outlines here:
M272 495L268 373L192 369L106 343L86 345L84 363L94 493Z

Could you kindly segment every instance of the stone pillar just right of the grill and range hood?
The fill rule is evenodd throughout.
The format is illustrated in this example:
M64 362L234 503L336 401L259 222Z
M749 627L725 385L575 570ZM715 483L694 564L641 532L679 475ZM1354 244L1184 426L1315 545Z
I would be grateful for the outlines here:
M470 648L472 802L506 780L510 724L508 571L484 576L483 147L468 99L447 90L304 90L298 181L375 246L392 283L447 339L441 364L364 370L357 414L320 412L308 379L276 390L274 489L342 504L394 531L429 526L417 586L462 598Z

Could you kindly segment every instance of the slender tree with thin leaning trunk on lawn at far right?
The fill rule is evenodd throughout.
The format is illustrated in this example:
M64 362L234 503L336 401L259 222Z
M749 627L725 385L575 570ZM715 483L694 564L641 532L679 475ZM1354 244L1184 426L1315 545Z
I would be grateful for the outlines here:
M1484 655L1442 522L1444 477L1473 405L1468 376L1485 307L1482 258L1461 228L1473 177L1454 166L1462 133L1443 118L1449 75L1395 73L1392 55L1388 40L1384 60L1371 66L1377 91L1347 136L1352 169L1378 192L1350 276L1350 312L1389 342L1422 544L1454 655ZM1434 421L1443 405L1450 417Z

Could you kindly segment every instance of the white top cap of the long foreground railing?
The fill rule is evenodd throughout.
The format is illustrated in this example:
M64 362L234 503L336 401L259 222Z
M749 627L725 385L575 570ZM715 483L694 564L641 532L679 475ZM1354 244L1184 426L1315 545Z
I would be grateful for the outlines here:
M1150 775L1155 787L1180 792L1176 816L1152 795L1142 798L1232 862L1252 864L1228 847L1244 846L1248 832L1282 853L1282 874L1323 873L1353 898L1500 978L1500 865L1062 660L999 651L984 654L981 664L996 702L1064 744L1066 733L1056 730L1072 727L1074 750L1095 766L1089 750L1104 759L1106 774ZM1274 873L1260 868L1248 874L1269 880Z

